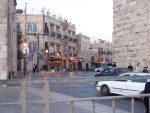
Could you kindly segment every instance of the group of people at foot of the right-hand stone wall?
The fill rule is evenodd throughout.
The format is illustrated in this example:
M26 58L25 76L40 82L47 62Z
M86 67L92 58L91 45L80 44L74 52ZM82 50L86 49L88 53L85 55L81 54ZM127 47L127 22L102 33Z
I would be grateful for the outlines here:
M131 65L131 63L129 63L128 65L128 69L134 72L141 72L141 68L140 68L140 63L137 63L137 65L135 66L135 68L133 68L133 66ZM143 73L149 73L148 70L148 66L145 66L144 69L142 70Z

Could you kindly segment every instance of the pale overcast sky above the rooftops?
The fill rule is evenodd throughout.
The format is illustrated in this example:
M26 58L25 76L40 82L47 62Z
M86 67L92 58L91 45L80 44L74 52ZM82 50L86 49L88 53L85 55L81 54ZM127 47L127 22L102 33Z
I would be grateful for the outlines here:
M112 41L113 0L17 0L17 9L28 12L41 11L61 15L75 24L76 33L91 37L91 41Z

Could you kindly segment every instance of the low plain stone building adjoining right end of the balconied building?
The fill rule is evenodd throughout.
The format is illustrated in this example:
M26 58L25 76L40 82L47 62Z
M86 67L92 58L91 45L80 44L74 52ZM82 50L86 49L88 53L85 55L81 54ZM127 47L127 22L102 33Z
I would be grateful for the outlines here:
M83 70L90 70L95 68L97 63L98 51L91 48L90 37L85 36L81 33L77 34L76 37L78 40L77 48L80 55L79 58L81 60L78 65L81 65Z

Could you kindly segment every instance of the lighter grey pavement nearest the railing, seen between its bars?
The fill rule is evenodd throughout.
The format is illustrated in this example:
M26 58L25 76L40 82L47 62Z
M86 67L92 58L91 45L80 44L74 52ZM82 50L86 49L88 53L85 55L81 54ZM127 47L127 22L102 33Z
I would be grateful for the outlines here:
M34 75L34 76L40 76ZM20 75L18 78L24 77ZM0 87L0 104L19 102L19 90L20 87ZM40 86L27 86L26 98L28 101L42 101L43 89ZM50 113L71 113L70 103L57 101L67 101L69 99L79 99L72 96L64 95L57 92L50 92L49 97L52 103L50 103ZM112 107L96 103L96 113L112 113ZM21 113L19 105L0 106L0 113ZM42 104L27 104L27 113L43 113ZM92 113L91 101L75 102L74 113ZM116 109L115 113L129 113L120 109Z

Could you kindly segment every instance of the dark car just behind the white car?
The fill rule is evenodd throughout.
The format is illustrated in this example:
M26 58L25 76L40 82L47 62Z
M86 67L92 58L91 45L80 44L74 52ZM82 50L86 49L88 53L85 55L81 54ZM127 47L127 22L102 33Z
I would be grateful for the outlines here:
M127 68L109 67L104 68L100 73L96 74L95 77L99 76L118 76L122 73L131 72Z

